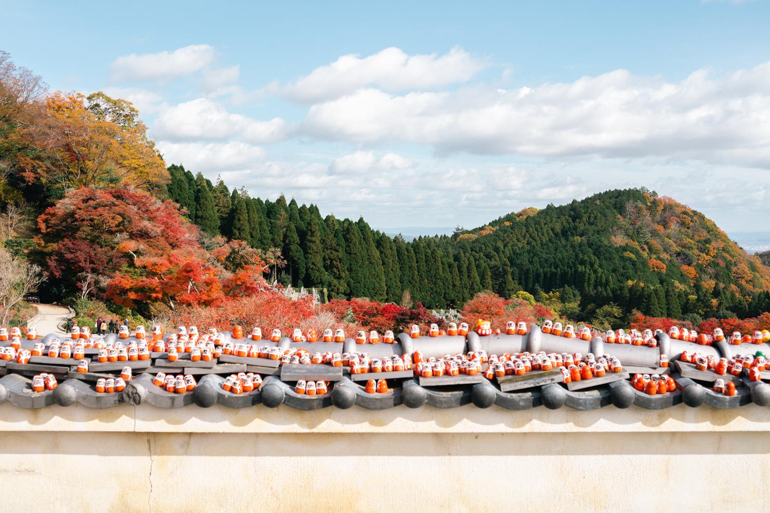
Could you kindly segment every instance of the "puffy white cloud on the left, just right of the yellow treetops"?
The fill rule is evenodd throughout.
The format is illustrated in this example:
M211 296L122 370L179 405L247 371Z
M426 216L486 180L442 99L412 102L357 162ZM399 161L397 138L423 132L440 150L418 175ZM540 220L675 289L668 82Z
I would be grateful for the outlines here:
M160 139L223 140L242 134L247 142L264 144L283 139L290 131L280 118L269 121L233 114L207 98L180 103L162 112L152 125L152 133Z

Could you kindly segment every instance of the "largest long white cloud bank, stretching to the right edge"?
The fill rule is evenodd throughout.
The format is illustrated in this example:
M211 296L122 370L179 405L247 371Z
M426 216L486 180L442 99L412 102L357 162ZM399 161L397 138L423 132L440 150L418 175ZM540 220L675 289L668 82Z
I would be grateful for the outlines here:
M318 139L410 142L439 154L740 160L770 163L770 62L680 82L617 70L519 89L394 95L360 89L310 107Z

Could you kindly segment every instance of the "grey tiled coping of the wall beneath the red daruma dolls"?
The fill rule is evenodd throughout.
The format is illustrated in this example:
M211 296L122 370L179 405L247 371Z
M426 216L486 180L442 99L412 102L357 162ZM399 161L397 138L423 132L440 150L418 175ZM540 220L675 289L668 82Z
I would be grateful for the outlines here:
M36 340L47 344L55 335ZM108 335L107 337L115 337ZM228 340L230 334L227 334ZM755 354L757 350L770 354L768 344L742 344L731 346L715 343L701 346L681 340L671 340L665 334L658 334L658 347L631 346L627 344L606 344L601 339L579 340L554 337L541 333L533 327L526 335L491 335L479 337L471 332L467 337L420 337L411 339L406 334L398 337L396 344L357 345L352 339L340 344L293 343L288 338L272 343L274 346L302 347L310 351L366 350L373 357L391 354L413 353L419 350L425 357L440 357L444 354L467 353L485 350L487 354L539 350L548 353L608 354L618 357L624 372L595 377L581 383L564 384L561 374L528 374L517 380L502 378L487 379L482 375L443 378L415 377L411 371L363 374L367 378L387 377L389 389L384 393L367 393L360 381L361 376L349 374L342 367L328 364L283 365L277 360L236 357L223 354L210 362L192 362L189 354L176 362L169 362L166 354L152 353L149 360L115 362L114 364L93 363L89 373L75 371L77 360L62 358L32 357L27 364L15 360L0 360L0 402L9 401L18 407L39 408L50 404L69 406L75 402L89 407L112 407L116 404L152 404L156 407L176 408L195 403L201 407L223 404L227 407L277 407L286 404L299 410L322 407L349 408L358 405L364 409L384 409L404 404L407 407L459 407L475 404L477 407L497 405L510 410L524 410L533 407L551 409L567 406L578 410L601 407L638 407L658 410L685 403L690 407L708 405L717 408L735 408L750 402L766 406L770 404L770 385L764 381L749 381L745 375L722 376L725 381L736 384L736 394L728 397L711 389L714 374L695 371L690 364L679 361L683 350L698 351L705 356L734 357L737 354ZM126 339L126 342L136 339ZM250 340L242 339L243 343ZM35 341L23 340L22 348L32 347ZM8 344L7 342L5 344ZM265 341L253 344L266 344ZM269 343L267 343L269 344ZM332 347L333 346L333 347ZM86 350L86 359L95 361L97 350ZM660 355L666 354L674 362L671 367L658 367ZM132 367L132 380L122 392L100 393L95 390L99 377L118 376L120 369L128 364ZM169 393L152 383L159 371L169 374L192 374L197 385L192 391L182 394ZM223 382L229 374L239 371L253 371L263 377L263 383L255 390L233 394L223 389ZM669 374L675 381L673 391L649 395L631 386L634 373ZM39 373L53 374L58 386L52 391L32 391L32 376ZM294 391L298 379L330 381L328 392L323 395L304 395ZM513 378L513 377L511 377ZM762 374L762 380L770 379L770 371ZM514 381L517 383L514 384Z

